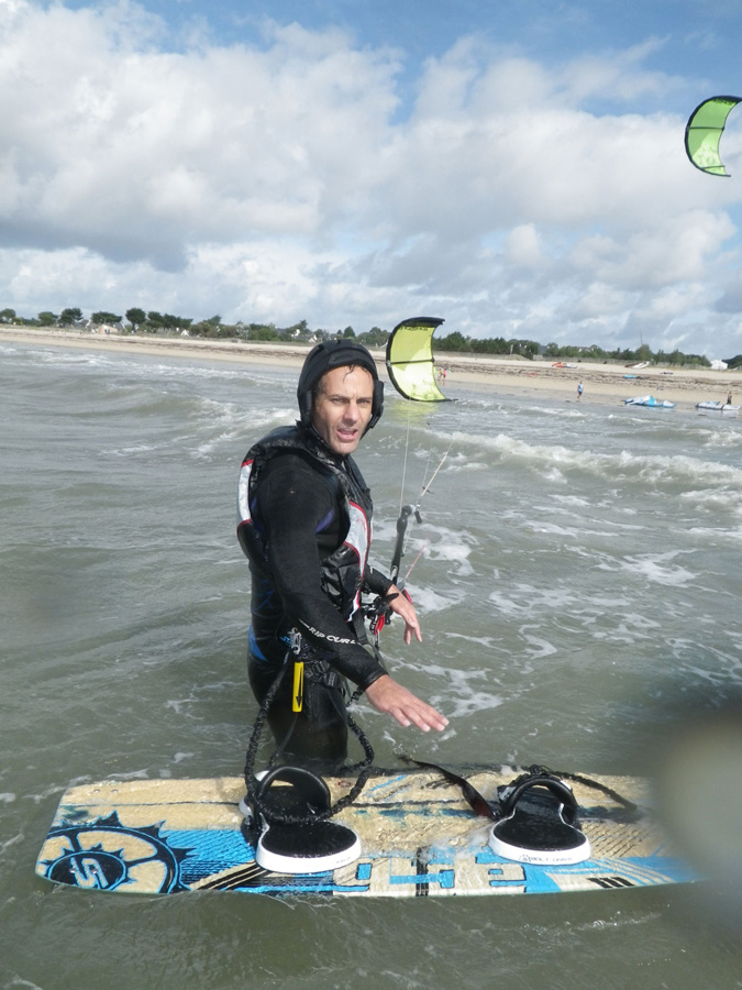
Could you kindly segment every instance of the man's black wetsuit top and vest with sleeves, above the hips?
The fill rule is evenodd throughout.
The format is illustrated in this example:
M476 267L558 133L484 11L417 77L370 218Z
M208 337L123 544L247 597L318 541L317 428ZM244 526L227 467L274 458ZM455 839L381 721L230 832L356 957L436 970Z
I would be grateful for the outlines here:
M253 575L251 654L279 666L298 629L304 647L354 683L381 676L350 622L367 575L375 593L388 587L366 564L372 501L353 459L300 428L276 430L247 452L237 507Z

